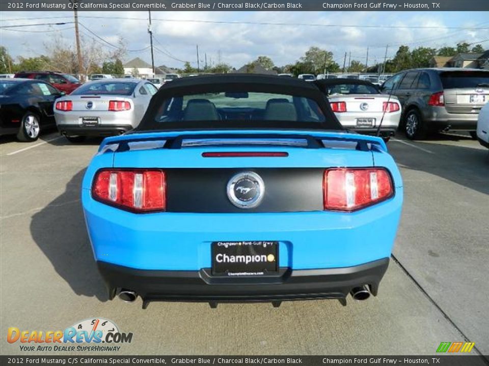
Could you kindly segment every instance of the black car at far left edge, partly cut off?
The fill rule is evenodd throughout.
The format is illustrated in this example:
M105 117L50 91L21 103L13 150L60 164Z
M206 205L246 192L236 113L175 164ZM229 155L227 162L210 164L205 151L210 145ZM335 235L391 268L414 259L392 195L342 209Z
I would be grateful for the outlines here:
M0 135L37 140L41 129L56 127L53 104L63 95L41 80L0 80Z

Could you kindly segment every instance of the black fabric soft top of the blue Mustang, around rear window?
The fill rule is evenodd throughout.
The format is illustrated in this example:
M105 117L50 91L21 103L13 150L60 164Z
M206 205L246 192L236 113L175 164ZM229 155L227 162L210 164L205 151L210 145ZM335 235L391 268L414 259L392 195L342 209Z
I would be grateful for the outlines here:
M200 75L176 79L162 85L158 92L153 96L148 109L135 131L153 130L155 126L154 118L160 107L165 101L186 95L204 94L204 93L239 93L255 92L270 94L286 94L295 97L308 98L317 103L325 116L324 123L297 123L284 122L277 126L268 124L266 121L260 121L259 125L244 124L234 128L284 128L284 129L321 129L321 130L343 130L335 114L331 110L327 98L319 88L310 82L295 78L284 78L275 75L258 75L258 74L215 74ZM225 121L213 121L205 126L205 129L228 128ZM187 130L203 129L202 124L178 123L165 125L165 130Z

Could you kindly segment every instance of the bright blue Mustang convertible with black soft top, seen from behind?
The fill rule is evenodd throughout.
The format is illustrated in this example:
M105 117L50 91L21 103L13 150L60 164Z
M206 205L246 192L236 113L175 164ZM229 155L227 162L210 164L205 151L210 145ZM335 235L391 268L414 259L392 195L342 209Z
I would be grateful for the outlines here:
M82 199L111 299L346 304L377 294L402 181L315 83L209 75L165 84L106 138Z

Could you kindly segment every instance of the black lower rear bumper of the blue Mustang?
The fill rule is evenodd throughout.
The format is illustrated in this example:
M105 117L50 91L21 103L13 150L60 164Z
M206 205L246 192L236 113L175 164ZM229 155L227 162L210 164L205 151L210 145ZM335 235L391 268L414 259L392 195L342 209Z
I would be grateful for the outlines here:
M343 268L291 270L279 276L212 277L210 268L193 271L141 270L98 261L111 298L116 289L139 294L145 301L250 302L345 298L355 287L369 285L377 294L389 258Z

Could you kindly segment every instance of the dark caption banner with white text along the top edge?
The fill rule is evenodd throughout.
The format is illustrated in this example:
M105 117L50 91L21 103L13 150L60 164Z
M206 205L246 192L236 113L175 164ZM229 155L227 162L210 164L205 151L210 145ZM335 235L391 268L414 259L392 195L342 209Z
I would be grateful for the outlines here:
M488 11L489 0L0 0L0 11Z

